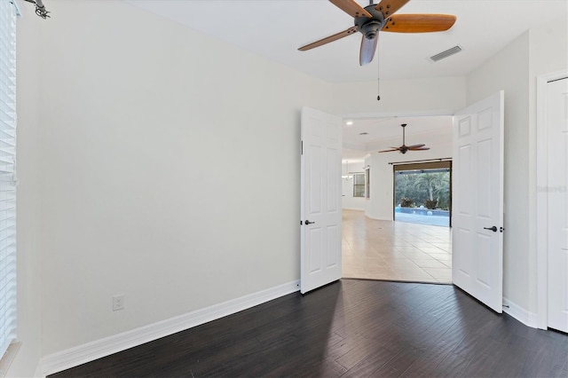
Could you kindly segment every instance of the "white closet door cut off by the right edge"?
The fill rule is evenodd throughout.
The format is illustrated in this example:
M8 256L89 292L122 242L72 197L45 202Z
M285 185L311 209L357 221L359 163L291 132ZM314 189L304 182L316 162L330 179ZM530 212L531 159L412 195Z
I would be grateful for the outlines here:
M568 79L547 84L548 327L568 332Z

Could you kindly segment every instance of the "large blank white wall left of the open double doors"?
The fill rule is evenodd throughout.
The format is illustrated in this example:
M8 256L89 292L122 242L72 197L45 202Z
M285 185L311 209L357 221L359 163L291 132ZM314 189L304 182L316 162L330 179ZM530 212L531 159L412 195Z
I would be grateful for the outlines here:
M297 280L300 109L329 85L122 2L50 11L19 71L40 77L20 201L41 198L43 355Z

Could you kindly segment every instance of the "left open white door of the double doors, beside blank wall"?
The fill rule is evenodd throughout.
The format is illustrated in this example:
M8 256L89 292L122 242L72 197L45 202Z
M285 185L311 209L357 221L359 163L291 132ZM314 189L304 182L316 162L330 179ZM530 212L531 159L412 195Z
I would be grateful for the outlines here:
M341 119L302 109L302 294L341 279Z

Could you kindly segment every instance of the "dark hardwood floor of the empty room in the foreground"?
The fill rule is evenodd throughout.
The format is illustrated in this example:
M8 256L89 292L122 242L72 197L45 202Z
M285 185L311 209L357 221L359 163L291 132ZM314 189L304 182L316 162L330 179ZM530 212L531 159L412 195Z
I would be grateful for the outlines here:
M568 336L450 285L341 280L50 377L568 377Z

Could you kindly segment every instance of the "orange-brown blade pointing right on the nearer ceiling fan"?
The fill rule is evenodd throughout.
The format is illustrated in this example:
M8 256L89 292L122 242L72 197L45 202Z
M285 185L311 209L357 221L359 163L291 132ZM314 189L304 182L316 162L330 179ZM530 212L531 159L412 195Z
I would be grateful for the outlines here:
M395 14L382 31L392 33L430 33L445 31L454 26L452 14Z

